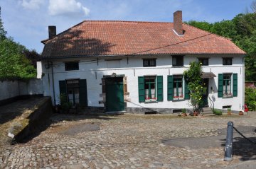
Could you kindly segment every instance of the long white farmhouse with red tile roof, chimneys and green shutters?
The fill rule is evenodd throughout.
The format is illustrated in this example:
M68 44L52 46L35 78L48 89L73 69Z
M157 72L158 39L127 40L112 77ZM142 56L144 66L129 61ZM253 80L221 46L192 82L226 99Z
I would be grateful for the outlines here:
M244 105L244 55L229 39L182 23L83 21L43 40L43 95L106 112L191 108L183 71L203 64L204 105Z

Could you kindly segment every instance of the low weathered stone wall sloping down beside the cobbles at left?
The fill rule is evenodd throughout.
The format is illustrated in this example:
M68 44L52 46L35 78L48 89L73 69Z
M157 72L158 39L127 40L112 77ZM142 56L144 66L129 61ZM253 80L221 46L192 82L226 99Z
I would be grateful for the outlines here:
M20 117L12 120L8 132L10 144L22 141L26 136L38 131L42 124L53 114L50 97L44 97L33 107L25 110Z

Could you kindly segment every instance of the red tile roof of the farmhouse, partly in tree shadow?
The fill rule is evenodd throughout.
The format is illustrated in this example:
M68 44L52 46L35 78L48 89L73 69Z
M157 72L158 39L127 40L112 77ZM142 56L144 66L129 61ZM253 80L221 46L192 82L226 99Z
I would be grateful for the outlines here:
M245 54L231 40L183 23L83 21L45 44L42 57L137 54Z

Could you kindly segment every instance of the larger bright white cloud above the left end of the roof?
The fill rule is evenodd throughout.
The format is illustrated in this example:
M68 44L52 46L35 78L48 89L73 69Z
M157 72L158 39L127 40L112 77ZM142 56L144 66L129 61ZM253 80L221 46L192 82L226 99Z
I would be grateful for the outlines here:
M80 13L88 16L90 9L76 0L49 0L48 12L51 16Z

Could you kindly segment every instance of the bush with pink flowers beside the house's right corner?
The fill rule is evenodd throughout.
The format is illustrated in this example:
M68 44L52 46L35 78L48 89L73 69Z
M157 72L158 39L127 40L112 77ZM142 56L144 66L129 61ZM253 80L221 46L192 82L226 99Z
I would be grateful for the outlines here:
M256 87L249 86L245 88L245 104L249 110L256 110Z

